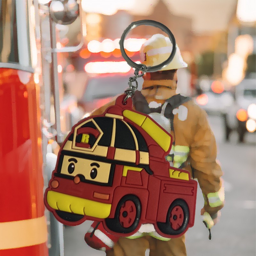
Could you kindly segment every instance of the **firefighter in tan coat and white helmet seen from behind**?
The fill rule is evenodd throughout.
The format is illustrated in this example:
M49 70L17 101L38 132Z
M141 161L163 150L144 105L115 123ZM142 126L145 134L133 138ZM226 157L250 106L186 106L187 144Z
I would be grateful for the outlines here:
M146 66L156 66L168 58L172 51L170 39L161 34L153 35L141 47L141 62ZM188 170L198 180L204 196L201 210L207 228L215 225L224 205L222 171L216 162L216 141L204 110L189 97L176 94L177 69L185 68L180 50L176 45L173 60L160 71L146 73L142 90L133 97L134 108L146 113L171 133L173 145L167 160L171 166ZM111 105L114 102L108 104ZM96 110L93 115L104 112L108 106ZM85 241L92 243L85 235ZM116 237L107 234L108 238ZM104 243L102 239L98 237ZM135 238L136 237L136 238ZM101 244L102 246L102 244ZM95 248L95 247L94 247ZM95 248L105 250L106 247ZM143 225L132 237L120 237L107 256L144 256L146 249L150 256L185 256L185 235L167 239L159 236L152 224Z

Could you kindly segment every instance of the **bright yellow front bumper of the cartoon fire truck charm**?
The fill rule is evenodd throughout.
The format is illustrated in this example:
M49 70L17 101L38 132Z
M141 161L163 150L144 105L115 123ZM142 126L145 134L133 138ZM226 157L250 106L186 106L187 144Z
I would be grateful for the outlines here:
M71 212L100 219L108 218L111 204L70 196L56 191L48 191L47 203L55 210Z

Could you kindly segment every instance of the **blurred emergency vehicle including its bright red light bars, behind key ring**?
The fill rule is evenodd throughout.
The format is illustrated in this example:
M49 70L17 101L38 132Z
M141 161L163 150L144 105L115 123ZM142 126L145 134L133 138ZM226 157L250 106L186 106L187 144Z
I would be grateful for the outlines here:
M120 38L92 40L72 56L75 70L85 72L88 77L85 90L80 93L82 96L79 96L78 101L86 116L110 102L117 94L124 93L129 87L129 77L134 76L134 70L122 57L119 41ZM126 54L133 61L139 62L139 50L145 41L145 38L124 40ZM142 78L137 79L138 82L141 80Z

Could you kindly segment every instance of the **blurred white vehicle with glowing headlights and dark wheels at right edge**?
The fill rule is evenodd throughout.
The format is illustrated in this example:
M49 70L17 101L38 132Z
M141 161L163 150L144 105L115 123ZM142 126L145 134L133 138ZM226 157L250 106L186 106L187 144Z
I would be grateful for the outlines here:
M235 99L235 103L222 115L225 138L228 141L230 133L236 130L239 142L243 142L246 132L256 130L256 79L244 79L238 84Z

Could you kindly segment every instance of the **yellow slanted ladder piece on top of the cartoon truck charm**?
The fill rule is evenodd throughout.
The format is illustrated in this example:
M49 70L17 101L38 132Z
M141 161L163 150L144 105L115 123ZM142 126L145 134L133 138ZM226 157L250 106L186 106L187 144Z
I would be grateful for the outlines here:
M171 136L150 118L130 110L124 110L123 115L135 124L138 124L165 152L168 151L171 144Z

